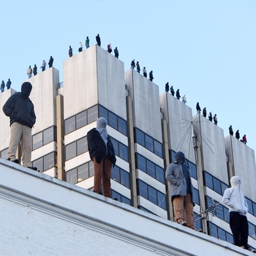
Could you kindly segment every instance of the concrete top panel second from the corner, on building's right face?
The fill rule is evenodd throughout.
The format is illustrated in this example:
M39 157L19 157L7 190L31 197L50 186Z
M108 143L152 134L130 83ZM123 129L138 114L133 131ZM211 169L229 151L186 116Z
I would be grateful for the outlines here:
M135 127L162 143L159 87L133 69L125 73L125 80L132 97Z

